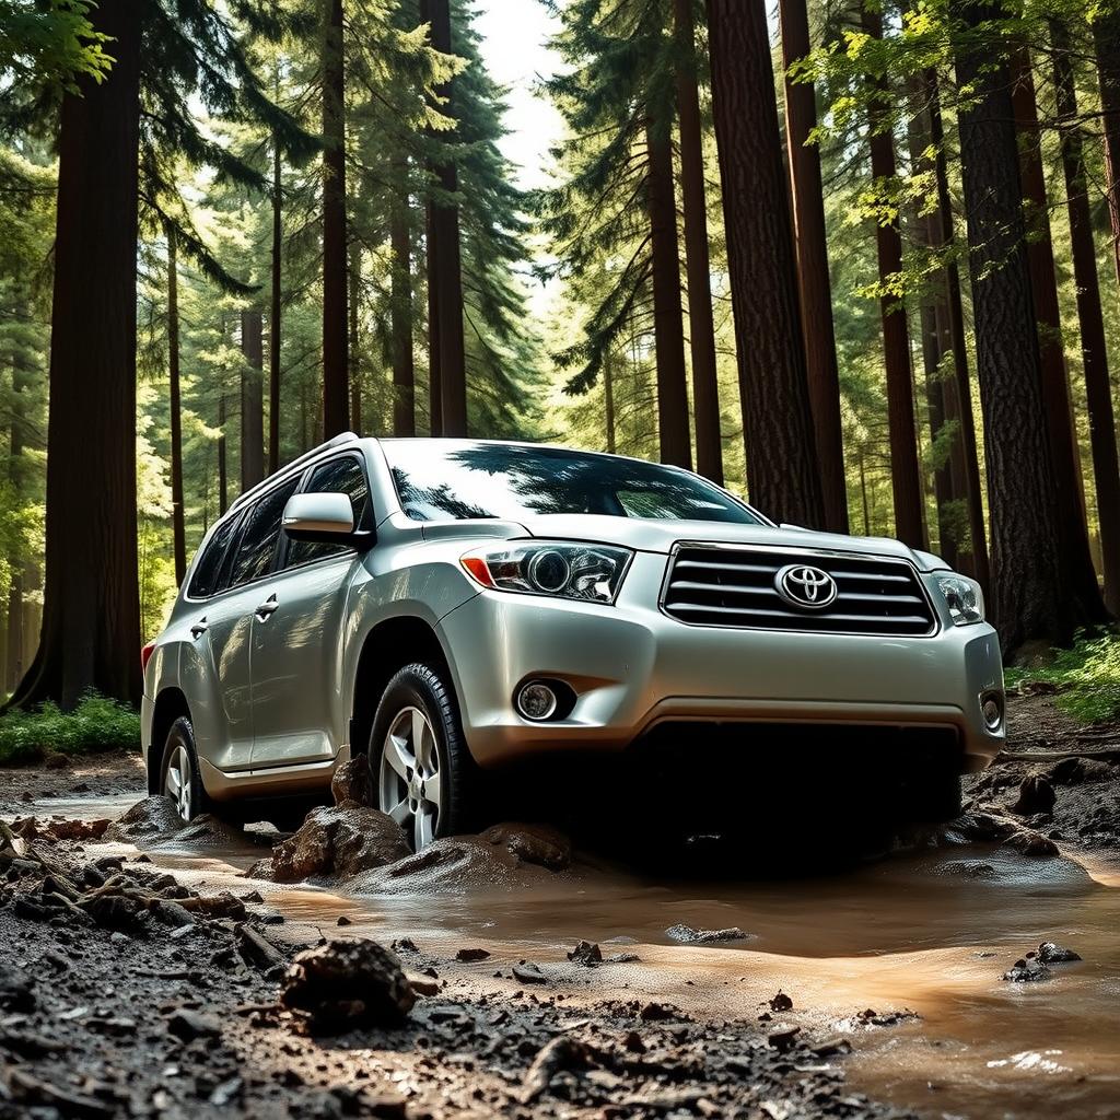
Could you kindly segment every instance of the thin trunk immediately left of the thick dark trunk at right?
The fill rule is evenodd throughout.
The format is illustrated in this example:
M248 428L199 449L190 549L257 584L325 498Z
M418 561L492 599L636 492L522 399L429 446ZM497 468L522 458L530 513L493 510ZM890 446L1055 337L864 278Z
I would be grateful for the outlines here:
M933 144L934 178L937 184L937 221L931 230L935 245L946 252L956 243L953 226L953 204L949 194L949 168L945 158L945 134L941 120L941 95L935 71L927 71L923 78L930 114L930 141ZM964 309L961 305L961 277L956 260L949 253L945 267L945 305L943 330L948 334L948 351L953 355L953 379L945 389L945 418L956 420L961 438L954 447L958 465L954 473L964 479L963 493L968 501L969 532L972 540L972 575L987 588L991 579L988 563L988 536L983 522L983 487L980 482L980 460L977 454L976 421L972 417L972 382L969 377L969 352L964 336Z

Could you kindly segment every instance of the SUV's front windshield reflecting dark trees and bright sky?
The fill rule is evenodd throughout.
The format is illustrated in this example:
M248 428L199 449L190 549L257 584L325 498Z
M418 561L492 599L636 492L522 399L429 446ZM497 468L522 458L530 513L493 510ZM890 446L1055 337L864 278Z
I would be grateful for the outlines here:
M384 440L401 507L414 521L594 513L759 524L696 475L641 459L554 447Z

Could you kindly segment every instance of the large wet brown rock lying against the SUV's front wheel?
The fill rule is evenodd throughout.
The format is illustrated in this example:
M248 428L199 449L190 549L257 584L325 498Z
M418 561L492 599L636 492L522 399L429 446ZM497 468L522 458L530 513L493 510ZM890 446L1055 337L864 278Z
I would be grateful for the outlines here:
M299 830L272 849L272 878L298 883L311 876L357 875L410 853L404 830L376 809L312 809Z

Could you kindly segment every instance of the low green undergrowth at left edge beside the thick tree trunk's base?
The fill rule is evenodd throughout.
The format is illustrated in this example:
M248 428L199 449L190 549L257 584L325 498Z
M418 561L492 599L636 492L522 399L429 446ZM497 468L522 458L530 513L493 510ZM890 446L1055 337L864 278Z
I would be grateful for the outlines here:
M0 766L29 766L47 755L93 755L140 749L140 717L127 704L96 693L71 712L45 703L0 715Z

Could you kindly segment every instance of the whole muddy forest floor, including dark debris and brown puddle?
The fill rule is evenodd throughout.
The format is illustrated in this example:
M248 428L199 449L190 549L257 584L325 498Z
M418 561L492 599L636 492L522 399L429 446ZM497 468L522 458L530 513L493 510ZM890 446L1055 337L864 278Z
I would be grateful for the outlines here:
M1120 1117L1120 727L1012 704L959 821L788 881L510 827L282 884L274 831L125 813L133 756L2 771L0 1117ZM325 939L412 996L367 950L309 1004Z

